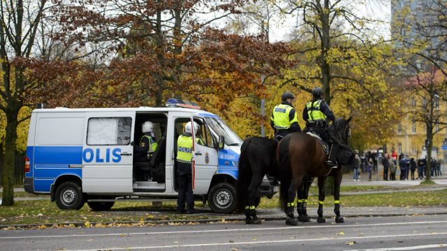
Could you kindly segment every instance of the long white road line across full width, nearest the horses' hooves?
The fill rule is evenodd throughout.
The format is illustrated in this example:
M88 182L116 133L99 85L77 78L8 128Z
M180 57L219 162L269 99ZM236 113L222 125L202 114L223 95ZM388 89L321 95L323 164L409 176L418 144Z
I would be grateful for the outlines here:
M420 225L420 224L442 224L447 223L447 220L427 221L427 222L390 222L390 223L374 223L374 224L356 224L356 225L317 225L317 226L302 226L302 227L265 227L265 228L243 228L243 229L213 229L213 230L191 230L191 231L156 231L156 232L135 232L135 233L114 233L114 234L68 234L68 235L47 235L47 236L6 236L0 237L2 239L19 239L19 238L68 238L68 237L94 237L94 236L126 236L132 235L150 235L150 234L201 234L201 233L219 233L219 232L233 232L233 231L268 231L268 230L283 230L283 229L314 229L314 228L346 228L346 227L380 227L380 226L394 226L394 225Z

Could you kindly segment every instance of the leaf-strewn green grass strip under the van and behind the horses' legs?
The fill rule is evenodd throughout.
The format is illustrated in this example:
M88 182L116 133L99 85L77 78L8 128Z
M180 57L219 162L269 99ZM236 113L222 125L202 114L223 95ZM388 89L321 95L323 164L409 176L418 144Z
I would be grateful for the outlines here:
M363 189L363 188L362 188ZM372 187L367 188L372 189ZM347 191L358 191L346 188ZM263 198L259 208L277 208L278 197ZM447 206L447 188L422 192L389 192L369 195L345 195L340 198L342 206ZM332 205L333 197L325 199ZM69 222L122 222L141 220L184 220L220 218L219 215L179 215L175 213L175 201L163 202L163 206L152 206L145 201L119 201L110 211L91 211L85 204L79 211L61 210L50 200L15 201L14 206L0 206L0 225L44 224ZM318 197L309 197L309 207L316 207ZM207 206L196 202L199 209L210 211Z

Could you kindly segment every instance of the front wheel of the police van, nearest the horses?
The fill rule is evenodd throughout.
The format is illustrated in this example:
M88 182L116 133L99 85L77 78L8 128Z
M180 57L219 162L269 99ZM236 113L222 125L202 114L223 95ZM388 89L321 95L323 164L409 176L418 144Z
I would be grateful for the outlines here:
M228 183L214 185L208 193L208 204L216 213L231 213L236 208L236 190Z

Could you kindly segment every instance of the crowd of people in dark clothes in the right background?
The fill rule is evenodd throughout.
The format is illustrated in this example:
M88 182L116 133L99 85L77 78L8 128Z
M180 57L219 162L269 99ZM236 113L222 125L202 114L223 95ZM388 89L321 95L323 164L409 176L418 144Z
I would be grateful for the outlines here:
M353 169L354 181L359 180L360 173L367 174L368 180L371 181L372 174L377 172L378 163L383 165L384 181L395 181L397 169L400 170L399 179L401 181L423 179L427 176L427 157L415 160L403 153L397 155L395 151L390 155L388 153L381 155L381 153L367 151L360 155L356 154L356 159L358 160L358 166ZM441 162L434 158L430 158L430 161L430 177L441 177Z

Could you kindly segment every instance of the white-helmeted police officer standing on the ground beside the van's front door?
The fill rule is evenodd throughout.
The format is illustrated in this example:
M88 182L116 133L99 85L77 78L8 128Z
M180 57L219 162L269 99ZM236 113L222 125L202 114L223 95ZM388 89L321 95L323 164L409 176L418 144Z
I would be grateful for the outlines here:
M194 128L192 128L194 126ZM179 197L177 199L178 213L196 213L194 210L194 197L192 185L192 130L197 134L199 126L196 122L186 123L184 134L177 139L177 167L179 173ZM186 200L187 209L184 204Z

